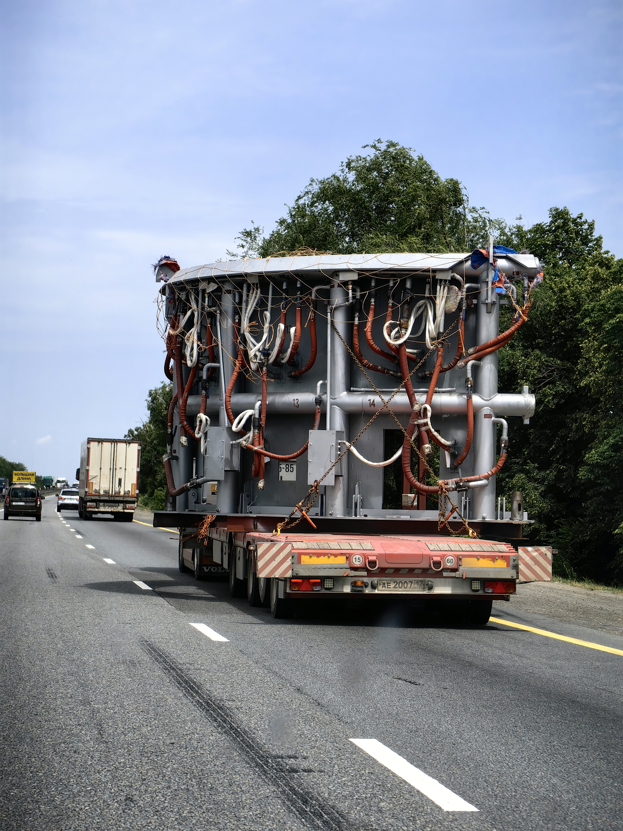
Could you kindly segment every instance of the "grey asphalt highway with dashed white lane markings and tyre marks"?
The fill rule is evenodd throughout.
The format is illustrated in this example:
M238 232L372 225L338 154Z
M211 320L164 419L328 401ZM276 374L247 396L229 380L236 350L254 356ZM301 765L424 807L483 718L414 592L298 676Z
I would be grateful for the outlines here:
M390 608L273 621L180 574L176 533L61 516L0 524L0 828L623 828L623 656Z

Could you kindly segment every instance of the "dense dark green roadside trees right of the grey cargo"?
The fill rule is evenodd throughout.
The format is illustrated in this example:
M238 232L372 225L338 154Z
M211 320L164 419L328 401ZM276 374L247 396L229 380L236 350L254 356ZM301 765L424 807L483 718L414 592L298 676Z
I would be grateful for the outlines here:
M567 208L522 229L546 263L528 322L500 350L500 386L537 396L529 427L512 421L498 492L522 490L535 543L559 550L562 573L621 581L623 523L623 260L602 250L595 224ZM501 328L512 312L503 309Z

